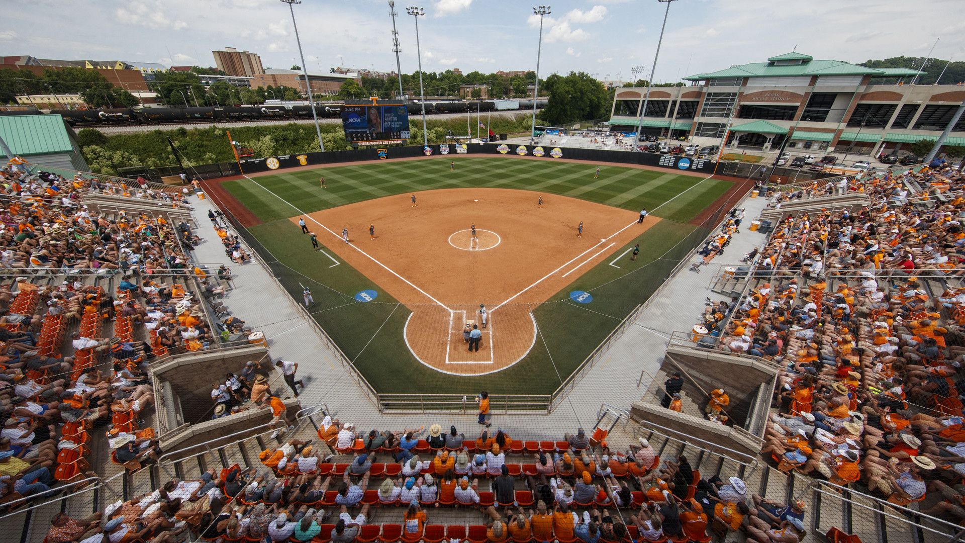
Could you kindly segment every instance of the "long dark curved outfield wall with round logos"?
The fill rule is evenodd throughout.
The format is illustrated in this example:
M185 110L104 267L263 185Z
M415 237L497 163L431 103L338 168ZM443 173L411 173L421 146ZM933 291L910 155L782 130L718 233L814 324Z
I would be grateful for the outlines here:
M429 157L444 157L455 155L507 155L520 157L542 157L546 160L568 158L595 162L613 162L621 164L640 164L677 171L687 171L710 175L714 171L716 162L698 157L678 157L674 155L658 155L655 153L633 153L630 151L604 151L600 149L543 147L533 145L518 145L509 143L484 143L471 145L437 144L430 145ZM352 151L326 151L324 153L304 153L301 155L281 155L276 157L250 158L237 162L221 162L188 166L181 170L176 166L165 168L124 168L124 176L136 178L142 176L149 181L160 183L165 176L178 175L181 171L188 177L199 179L216 179L234 177L245 174L284 170L301 166L323 166L340 162L361 162L380 160L385 158L409 158L426 155L422 147L388 147L383 149L358 149Z

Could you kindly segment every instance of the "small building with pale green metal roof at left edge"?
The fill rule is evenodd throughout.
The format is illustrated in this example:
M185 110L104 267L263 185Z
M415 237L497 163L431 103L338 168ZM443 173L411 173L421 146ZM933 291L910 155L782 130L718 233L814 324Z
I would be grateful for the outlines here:
M60 115L0 115L0 139L4 156L9 152L31 164L88 170L73 129Z

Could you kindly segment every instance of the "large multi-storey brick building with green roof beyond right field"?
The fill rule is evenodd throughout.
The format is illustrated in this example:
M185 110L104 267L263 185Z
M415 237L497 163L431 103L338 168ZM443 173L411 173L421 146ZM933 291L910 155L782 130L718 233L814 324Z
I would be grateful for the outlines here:
M763 150L786 141L792 153L900 154L910 142L936 139L965 100L963 85L914 84L923 73L791 51L688 75L689 86L653 87L648 99L646 88L618 89L610 127L635 132L642 126L644 134L687 136L700 145L726 137L731 147ZM965 117L948 141L961 138Z

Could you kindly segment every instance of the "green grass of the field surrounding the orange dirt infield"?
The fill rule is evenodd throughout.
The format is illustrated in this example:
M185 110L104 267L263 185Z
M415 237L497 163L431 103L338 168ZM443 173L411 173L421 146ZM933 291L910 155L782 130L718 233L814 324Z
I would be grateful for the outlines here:
M294 227L288 218L297 212L285 201L247 180L226 183L234 196L264 221L249 230L271 252L269 260L285 265L273 268L280 271L290 294L300 300L298 283L312 287L317 301L313 316L379 392L473 393L482 387L492 393L552 392L629 311L659 287L676 265L671 257L696 243L694 239L680 243L665 256L694 232L687 221L731 187L728 182L708 179L687 190L703 178L615 166L601 167L600 179L594 180L595 165L590 163L500 157L456 159L456 171L450 172L450 161L450 157L440 157L376 162L256 179L305 213L409 191L494 186L563 194L630 210L646 207L669 220L660 221L616 253L640 243L637 261L624 256L617 269L608 265L611 257L534 308L545 345L538 338L529 356L504 371L458 377L427 368L405 347L402 327L409 315L405 306L345 264L331 269L319 265L319 259L325 257L312 251L302 237L291 235ZM318 187L321 175L328 188ZM674 198L677 194L681 195ZM378 291L378 299L355 302L354 293L365 289ZM593 302L569 301L568 293L573 290L591 292ZM406 379L400 380L400 375Z

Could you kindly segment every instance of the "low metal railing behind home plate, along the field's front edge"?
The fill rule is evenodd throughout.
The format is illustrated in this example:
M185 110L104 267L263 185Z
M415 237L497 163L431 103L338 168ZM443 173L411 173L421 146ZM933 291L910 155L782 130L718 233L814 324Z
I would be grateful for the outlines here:
M383 411L409 414L473 414L479 411L471 394L376 394ZM550 413L549 394L490 394L490 413Z

